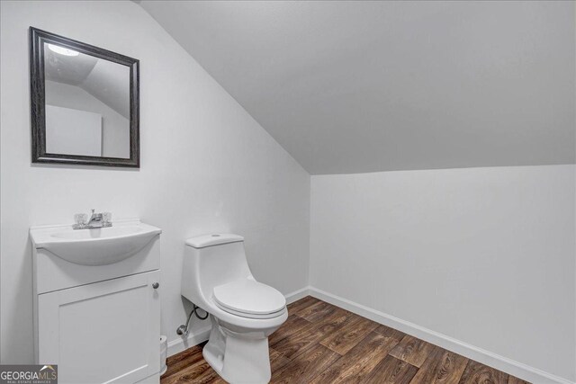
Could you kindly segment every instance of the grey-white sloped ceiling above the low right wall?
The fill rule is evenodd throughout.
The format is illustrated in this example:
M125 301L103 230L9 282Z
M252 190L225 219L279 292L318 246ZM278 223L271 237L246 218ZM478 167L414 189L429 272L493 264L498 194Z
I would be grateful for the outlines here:
M575 161L573 2L140 4L311 174Z

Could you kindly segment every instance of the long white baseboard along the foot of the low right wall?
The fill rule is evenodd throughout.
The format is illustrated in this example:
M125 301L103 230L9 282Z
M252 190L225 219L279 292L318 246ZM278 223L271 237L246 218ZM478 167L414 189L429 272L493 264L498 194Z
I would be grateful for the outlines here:
M318 290L314 287L308 287L308 291L314 298L321 299L337 307L347 309L350 312L354 312L357 315L369 318L376 323L383 324L384 326L390 326L394 329L398 329L408 335L413 335L419 339L427 341L430 344L436 344L448 351L461 354L476 362L482 362L482 364L486 364L490 367L496 368L497 370L509 373L522 380L527 380L535 384L575 384L573 381L566 380L551 373L538 370L521 362L515 362L506 357L500 356L499 354L491 353L471 344L466 344L460 340L456 340L455 338L439 334L423 326L418 326L416 324L402 320L401 318L387 315L373 308L365 307L355 303L354 301L340 298L329 292Z

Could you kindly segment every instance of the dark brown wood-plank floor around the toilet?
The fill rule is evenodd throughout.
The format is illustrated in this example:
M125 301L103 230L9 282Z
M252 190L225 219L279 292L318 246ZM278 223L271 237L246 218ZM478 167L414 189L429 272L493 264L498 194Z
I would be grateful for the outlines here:
M288 313L269 339L273 383L526 383L311 296ZM161 384L224 383L202 346L168 358Z

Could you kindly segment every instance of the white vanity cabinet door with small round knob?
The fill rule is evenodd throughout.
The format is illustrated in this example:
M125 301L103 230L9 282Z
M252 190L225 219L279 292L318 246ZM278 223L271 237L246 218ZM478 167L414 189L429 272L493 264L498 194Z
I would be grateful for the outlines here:
M39 363L59 383L134 383L159 371L159 271L38 297Z

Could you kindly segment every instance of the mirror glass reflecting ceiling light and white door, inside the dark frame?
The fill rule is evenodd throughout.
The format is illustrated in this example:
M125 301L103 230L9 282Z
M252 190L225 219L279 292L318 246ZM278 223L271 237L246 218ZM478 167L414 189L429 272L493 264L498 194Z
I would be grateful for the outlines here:
M130 158L130 67L43 46L46 152Z

